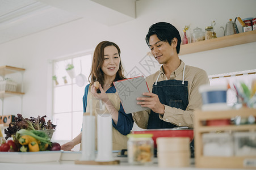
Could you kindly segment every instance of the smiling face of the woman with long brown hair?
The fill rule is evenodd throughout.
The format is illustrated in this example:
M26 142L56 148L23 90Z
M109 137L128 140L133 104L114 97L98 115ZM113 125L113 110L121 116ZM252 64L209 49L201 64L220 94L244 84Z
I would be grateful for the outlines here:
M120 56L114 45L104 48L104 62L101 67L105 76L116 76L119 70Z

